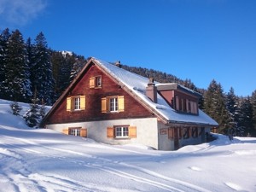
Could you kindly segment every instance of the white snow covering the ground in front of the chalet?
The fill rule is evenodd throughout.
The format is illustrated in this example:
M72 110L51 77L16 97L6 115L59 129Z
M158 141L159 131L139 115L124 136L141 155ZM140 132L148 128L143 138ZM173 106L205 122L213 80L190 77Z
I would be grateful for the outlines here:
M28 128L9 103L0 100L0 191L256 191L256 138L218 135L177 151L112 146Z

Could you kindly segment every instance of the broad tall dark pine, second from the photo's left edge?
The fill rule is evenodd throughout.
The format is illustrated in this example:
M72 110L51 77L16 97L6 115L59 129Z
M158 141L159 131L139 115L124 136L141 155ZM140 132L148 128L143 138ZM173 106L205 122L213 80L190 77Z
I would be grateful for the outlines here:
M32 96L26 45L19 30L12 32L6 51L5 92L9 99L27 102Z

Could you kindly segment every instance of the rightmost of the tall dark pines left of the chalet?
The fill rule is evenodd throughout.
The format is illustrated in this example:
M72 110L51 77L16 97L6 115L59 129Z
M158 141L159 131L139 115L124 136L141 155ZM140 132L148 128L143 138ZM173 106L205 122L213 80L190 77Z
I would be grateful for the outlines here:
M50 62L49 49L43 32L35 39L32 51L32 90L38 91L38 98L46 104L53 104L54 79Z

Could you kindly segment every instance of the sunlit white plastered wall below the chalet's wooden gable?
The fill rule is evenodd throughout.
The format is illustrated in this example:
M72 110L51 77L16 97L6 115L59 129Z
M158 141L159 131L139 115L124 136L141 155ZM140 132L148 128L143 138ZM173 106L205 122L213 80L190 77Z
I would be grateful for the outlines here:
M113 125L130 125L137 127L136 138L108 138L107 127ZM62 132L64 129L72 127L82 127L87 129L87 137L94 139L96 142L108 144L128 144L140 143L150 146L155 149L161 149L158 145L158 122L156 118L144 119L115 119L115 120L100 120L78 123L63 123L46 125L46 128ZM72 136L71 136L72 137Z

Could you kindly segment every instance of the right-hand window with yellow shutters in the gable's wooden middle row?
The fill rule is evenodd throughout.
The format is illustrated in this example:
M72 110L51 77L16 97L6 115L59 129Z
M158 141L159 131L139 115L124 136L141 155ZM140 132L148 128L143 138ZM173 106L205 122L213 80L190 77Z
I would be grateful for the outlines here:
M107 96L102 98L102 113L116 113L125 111L124 96Z

